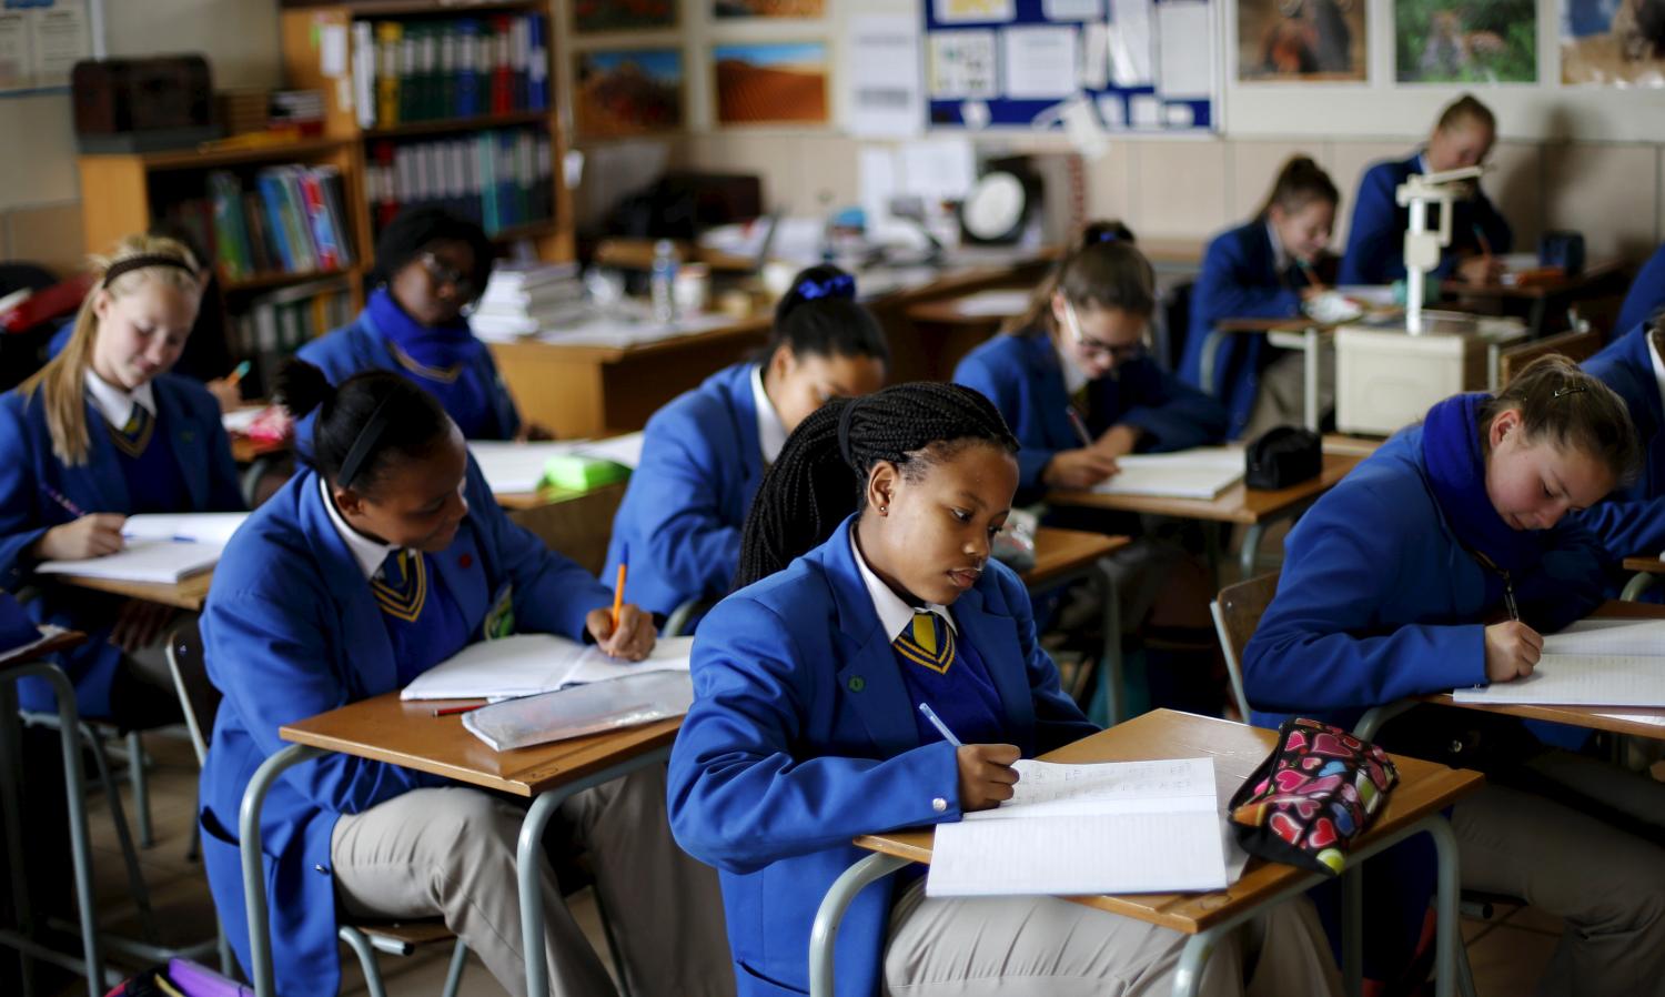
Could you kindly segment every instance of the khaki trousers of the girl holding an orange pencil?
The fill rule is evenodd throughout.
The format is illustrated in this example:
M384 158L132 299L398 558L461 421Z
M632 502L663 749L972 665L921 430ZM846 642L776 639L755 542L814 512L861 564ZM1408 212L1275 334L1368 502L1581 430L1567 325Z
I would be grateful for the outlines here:
M480 789L416 789L336 821L336 899L355 919L443 917L504 990L526 994L514 846L524 807ZM641 997L734 994L716 872L676 842L664 767L649 766L566 801L551 836L586 847L596 899ZM558 997L616 994L606 967L543 864L544 950Z

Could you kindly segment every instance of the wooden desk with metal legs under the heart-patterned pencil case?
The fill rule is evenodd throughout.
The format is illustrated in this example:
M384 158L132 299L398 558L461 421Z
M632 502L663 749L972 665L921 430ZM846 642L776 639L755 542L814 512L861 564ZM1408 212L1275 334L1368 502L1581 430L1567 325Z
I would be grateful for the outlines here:
M1275 744L1275 731L1157 709L1041 757L1056 762L1212 757L1220 781L1242 782ZM1357 866L1410 834L1432 832L1435 849L1440 854L1439 992L1449 995L1455 992L1454 959L1457 945L1462 940L1457 925L1457 842L1440 811L1477 791L1485 779L1479 772L1449 769L1442 764L1404 756L1394 756L1394 764L1399 767L1399 786L1394 787L1387 806L1377 814L1375 822L1359 839L1347 859L1349 874L1344 882L1352 887L1345 900L1349 907L1345 914L1349 942L1357 942L1359 939L1359 922L1355 920L1359 914ZM934 831L924 829L869 834L856 839L857 847L869 849L876 856L852 866L828 890L821 912L816 915L814 934L811 935L811 994L832 994L831 945L837 932L837 917L842 915L844 905L847 905L856 892L847 887L854 884L859 890L861 885L907 862L929 864L932 837ZM882 861L876 861L881 857ZM867 866L869 862L871 866ZM1190 935L1174 980L1175 994L1189 994L1195 992L1207 952L1219 942L1224 932L1242 924L1257 910L1305 892L1327 879L1327 875L1305 872L1294 866L1250 859L1242 879L1224 890L1066 899ZM842 900L842 905L839 905L839 900ZM1344 942L1344 954L1355 955L1357 947L1350 947L1349 942ZM1350 972L1357 972L1357 960L1354 959Z

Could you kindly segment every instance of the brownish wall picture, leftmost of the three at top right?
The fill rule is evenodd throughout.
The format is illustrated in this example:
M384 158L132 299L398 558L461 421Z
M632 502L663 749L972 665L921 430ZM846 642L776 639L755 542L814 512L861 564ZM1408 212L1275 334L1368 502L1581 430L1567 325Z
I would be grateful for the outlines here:
M1237 78L1359 83L1365 0L1239 0Z

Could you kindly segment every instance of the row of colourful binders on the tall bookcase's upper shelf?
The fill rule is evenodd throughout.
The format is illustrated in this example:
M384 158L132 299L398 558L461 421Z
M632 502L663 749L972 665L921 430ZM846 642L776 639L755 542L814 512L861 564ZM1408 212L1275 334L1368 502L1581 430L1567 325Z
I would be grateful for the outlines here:
M353 82L361 128L544 110L548 18L353 22Z

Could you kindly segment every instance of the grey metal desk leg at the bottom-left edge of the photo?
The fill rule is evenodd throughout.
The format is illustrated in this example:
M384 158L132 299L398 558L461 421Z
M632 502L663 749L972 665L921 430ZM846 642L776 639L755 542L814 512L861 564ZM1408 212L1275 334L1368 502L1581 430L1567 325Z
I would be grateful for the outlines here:
M62 962L72 969L87 975L87 994L90 997L98 997L113 982L107 977L103 965L103 950L100 947L98 924L97 924L97 907L93 902L93 859L92 859L92 839L87 832L87 779L82 772L82 746L77 736L80 729L80 712L75 704L75 686L70 684L70 677L63 674L63 669L52 662L37 661L30 664L22 664L10 669L5 679L0 679L0 711L5 712L3 721L7 729L5 746L10 749L15 744L17 732L17 694L15 682L23 677L42 677L52 686L52 694L58 699L58 744L63 751L63 781L65 796L68 797L68 816L70 816L70 857L75 864L75 904L80 915L82 930L82 957L83 965L75 965L73 960L63 962L62 959L53 959L53 962ZM13 761L15 766L15 761ZM13 772L17 769L13 767ZM17 789L17 782L12 784ZM7 807L8 814L17 814L15 806ZM8 819L8 824L12 821ZM8 827L8 832L15 827ZM13 839L17 841L17 839ZM18 849L22 844L18 842ZM13 854L13 859L17 854ZM22 884L22 875L17 877L18 884L13 889L25 889ZM7 944L12 944L25 955L37 955L52 959L52 954L43 945L38 945L33 939L27 935L28 920L23 917L25 907L20 907L20 927L25 932L3 932Z

